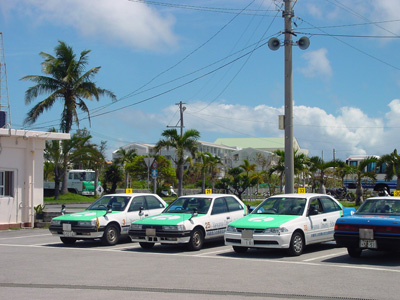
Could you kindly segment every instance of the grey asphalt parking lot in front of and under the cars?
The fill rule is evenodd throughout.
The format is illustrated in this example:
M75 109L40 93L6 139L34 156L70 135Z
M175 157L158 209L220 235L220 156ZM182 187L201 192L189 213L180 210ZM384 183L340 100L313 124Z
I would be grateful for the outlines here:
M0 231L0 299L398 299L398 253L352 259L334 242L289 257L237 254L222 242L197 252L128 241L62 244L47 229Z

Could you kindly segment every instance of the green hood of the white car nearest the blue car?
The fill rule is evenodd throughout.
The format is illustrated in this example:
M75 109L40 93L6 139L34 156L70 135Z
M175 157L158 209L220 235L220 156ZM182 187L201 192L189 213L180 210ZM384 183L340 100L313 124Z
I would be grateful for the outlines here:
M229 226L249 229L276 228L300 217L301 216L250 214L231 222Z

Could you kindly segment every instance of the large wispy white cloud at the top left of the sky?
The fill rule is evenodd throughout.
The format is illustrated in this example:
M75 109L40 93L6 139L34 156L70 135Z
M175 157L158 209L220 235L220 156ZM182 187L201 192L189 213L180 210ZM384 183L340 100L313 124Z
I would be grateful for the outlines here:
M73 27L87 37L156 50L175 47L175 19L161 16L143 3L127 0L24 0L15 8L32 18L32 23Z

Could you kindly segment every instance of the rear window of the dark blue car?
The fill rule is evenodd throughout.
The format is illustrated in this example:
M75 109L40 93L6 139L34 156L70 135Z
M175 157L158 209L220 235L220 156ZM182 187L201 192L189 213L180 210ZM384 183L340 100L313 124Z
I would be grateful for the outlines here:
M395 199L367 199L358 208L358 215L400 215L400 200Z

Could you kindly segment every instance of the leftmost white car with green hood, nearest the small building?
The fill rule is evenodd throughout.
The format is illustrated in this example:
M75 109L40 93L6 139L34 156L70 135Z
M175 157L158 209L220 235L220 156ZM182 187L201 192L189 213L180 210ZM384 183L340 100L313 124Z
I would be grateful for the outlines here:
M165 207L166 202L156 194L105 195L82 212L53 218L49 230L64 244L101 239L104 245L115 245L120 237L128 237L133 221L159 214Z

